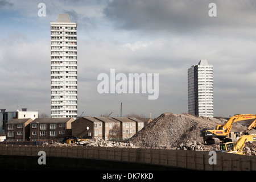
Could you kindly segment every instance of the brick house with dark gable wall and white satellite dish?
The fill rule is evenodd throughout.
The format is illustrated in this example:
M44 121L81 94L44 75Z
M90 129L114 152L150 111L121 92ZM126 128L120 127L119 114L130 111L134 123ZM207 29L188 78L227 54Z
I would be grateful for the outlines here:
M99 137L103 139L102 121L93 117L81 117L72 122L72 135L77 138Z

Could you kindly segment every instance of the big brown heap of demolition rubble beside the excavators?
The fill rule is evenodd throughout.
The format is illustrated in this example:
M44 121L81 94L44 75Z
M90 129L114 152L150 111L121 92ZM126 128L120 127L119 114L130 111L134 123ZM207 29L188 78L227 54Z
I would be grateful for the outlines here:
M130 142L142 148L197 151L219 150L220 145L218 144L203 144L203 137L200 137L199 133L203 128L214 128L216 125L222 125L225 122L226 119L195 117L190 114L163 113L135 134L130 139ZM231 131L244 131L245 129L246 126L241 125L241 123L235 123ZM254 155L256 153L253 148L255 147L246 147L246 150Z

